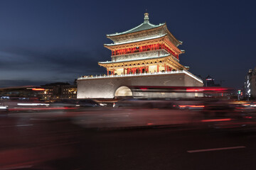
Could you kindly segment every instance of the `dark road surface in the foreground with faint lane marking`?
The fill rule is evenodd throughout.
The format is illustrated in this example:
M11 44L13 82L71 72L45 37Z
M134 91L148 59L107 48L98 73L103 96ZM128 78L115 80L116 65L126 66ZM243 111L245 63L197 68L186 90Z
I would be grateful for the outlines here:
M164 114L162 110L151 111ZM255 166L254 120L250 128L210 128L195 122L117 128L115 115L110 117L115 118L115 128L103 128L110 125L109 121L95 128L95 124L78 122L78 118L86 119L85 113L2 115L0 169L254 169Z

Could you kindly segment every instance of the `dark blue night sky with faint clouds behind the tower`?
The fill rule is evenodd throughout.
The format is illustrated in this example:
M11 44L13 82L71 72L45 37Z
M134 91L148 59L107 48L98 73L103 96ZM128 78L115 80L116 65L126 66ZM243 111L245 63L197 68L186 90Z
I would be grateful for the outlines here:
M255 1L0 0L0 87L106 74L106 34L165 23L193 74L240 88L256 67Z

